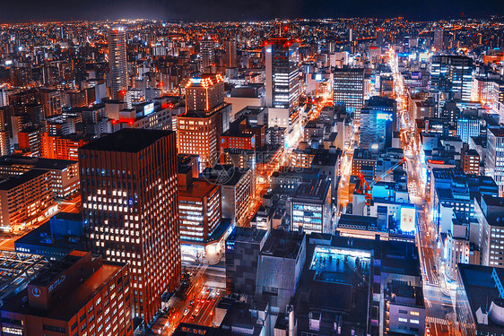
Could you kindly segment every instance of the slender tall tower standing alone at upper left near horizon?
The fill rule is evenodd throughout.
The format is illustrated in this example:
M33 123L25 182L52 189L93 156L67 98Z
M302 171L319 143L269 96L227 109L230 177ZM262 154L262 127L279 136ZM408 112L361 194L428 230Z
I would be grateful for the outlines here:
M109 70L112 98L119 99L120 91L128 89L126 62L126 30L117 28L109 32Z

